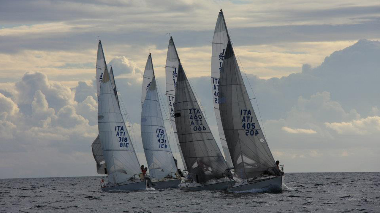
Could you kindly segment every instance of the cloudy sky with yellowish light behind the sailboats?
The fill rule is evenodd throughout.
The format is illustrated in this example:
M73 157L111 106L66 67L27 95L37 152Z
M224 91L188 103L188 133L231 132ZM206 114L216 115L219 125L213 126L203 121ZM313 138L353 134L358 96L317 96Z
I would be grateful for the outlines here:
M210 72L220 9L269 147L285 172L380 171L376 0L19 0L1 5L0 178L97 175L90 147L98 134L97 36L113 67L142 164L142 74L151 52L166 100L169 35L219 143ZM163 106L167 112L166 101Z

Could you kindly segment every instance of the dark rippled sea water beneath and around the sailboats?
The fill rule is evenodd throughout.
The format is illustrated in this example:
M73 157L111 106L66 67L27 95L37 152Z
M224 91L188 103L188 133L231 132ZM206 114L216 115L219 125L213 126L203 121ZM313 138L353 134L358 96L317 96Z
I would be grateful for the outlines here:
M0 212L380 212L380 172L288 173L281 193L101 192L98 177L1 179Z

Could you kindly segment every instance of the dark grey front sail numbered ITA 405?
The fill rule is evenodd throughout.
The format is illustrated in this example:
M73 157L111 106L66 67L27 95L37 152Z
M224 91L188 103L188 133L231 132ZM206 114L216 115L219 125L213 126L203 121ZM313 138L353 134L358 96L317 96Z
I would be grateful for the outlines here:
M276 166L274 158L253 111L230 41L220 73L219 107L235 174L249 179L268 168L277 174L273 169Z

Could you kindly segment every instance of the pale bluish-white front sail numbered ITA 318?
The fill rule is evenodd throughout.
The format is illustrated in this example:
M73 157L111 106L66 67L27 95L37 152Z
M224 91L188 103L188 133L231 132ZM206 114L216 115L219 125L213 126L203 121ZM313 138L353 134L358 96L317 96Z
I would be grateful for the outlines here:
M106 70L99 95L98 130L108 181L119 184L141 173L141 170L109 78Z

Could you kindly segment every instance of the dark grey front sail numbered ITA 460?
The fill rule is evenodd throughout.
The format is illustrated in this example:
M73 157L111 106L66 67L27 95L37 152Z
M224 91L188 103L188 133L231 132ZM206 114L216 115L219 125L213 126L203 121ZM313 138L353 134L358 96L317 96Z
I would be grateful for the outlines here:
M204 119L181 64L178 67L174 106L178 138L189 174L199 183L223 177L227 169L226 161Z

